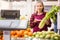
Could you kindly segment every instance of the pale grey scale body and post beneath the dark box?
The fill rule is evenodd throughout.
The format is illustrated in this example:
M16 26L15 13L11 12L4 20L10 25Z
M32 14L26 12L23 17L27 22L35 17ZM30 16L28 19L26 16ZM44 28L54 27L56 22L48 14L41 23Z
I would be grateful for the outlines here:
M26 28L27 20L0 20L0 30L3 30L4 40L11 40L10 37L11 30L20 30Z

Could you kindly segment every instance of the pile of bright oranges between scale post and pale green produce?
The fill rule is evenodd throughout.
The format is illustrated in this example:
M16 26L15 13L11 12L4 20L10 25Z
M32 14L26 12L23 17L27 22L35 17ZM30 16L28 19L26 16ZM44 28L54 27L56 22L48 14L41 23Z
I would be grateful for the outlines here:
M14 30L14 31L11 31L11 37L24 38L26 35L27 36L32 36L33 35L30 28L27 28L26 30Z

